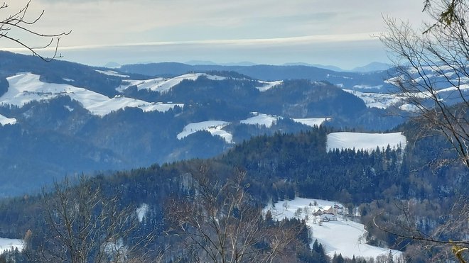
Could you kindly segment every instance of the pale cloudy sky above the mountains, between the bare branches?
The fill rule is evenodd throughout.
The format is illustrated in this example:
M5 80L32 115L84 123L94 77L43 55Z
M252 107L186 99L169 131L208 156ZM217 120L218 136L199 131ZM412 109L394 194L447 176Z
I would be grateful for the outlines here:
M6 0L6 18L26 0ZM376 38L383 17L420 25L423 0L32 0L27 18L40 33L71 30L63 60L104 66L211 61L282 65L304 62L343 69L389 62ZM10 33L29 45L48 40ZM0 38L0 49L26 52ZM27 52L26 52L27 53Z

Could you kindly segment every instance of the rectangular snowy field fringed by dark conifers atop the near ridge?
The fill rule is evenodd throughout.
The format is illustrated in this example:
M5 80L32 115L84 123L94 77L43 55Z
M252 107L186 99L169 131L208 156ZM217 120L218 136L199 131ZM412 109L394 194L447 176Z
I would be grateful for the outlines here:
M402 133L329 133L327 149L355 148L371 152L376 147L386 149L387 145L405 149L406 144L406 137Z

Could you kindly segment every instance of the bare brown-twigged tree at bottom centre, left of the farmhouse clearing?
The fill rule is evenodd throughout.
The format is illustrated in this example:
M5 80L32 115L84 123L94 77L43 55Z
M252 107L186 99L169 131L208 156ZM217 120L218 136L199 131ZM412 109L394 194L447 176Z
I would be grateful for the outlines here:
M168 235L180 237L195 262L291 262L298 226L269 225L243 184L245 172L218 181L201 168L186 199L168 201Z

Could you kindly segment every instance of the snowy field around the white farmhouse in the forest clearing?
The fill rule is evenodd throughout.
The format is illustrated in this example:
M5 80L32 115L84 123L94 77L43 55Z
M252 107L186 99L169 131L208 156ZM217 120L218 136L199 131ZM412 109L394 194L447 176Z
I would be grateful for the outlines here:
M316 206L314 205L316 201ZM312 243L318 240L324 249L325 253L333 257L334 253L342 254L343 257L373 257L389 254L389 249L382 247L374 247L365 243L366 230L364 225L350 220L346 220L344 216L338 215L337 221L322 222L319 224L319 218L313 216L313 211L326 206L335 206L334 201L325 201L320 199L310 198L295 198L291 201L279 201L274 206L270 205L264 208L264 212L270 210L274 219L281 220L287 218L300 218L305 219L308 215L306 224L311 227L313 231ZM341 206L341 205L340 205ZM298 215L298 208L301 213ZM306 208L306 212L305 212ZM296 214L296 215L295 215ZM401 252L391 250L394 257L400 257Z

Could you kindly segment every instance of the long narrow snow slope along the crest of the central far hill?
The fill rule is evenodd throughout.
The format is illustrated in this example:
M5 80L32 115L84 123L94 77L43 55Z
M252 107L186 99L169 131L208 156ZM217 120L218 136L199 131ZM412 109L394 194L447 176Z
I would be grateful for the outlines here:
M183 74L178 77L173 77L171 79L164 79L164 78L156 78L156 79L146 79L146 80L126 80L125 85L119 86L117 91L122 92L125 89L129 88L129 86L136 86L138 90L141 89L149 89L151 91L158 91L159 93L166 93L173 89L173 86L180 84L183 80L196 80L199 77L204 76L207 79L212 80L223 80L225 77L209 75L205 73L189 73Z

